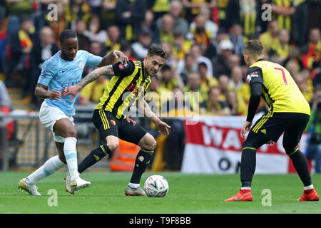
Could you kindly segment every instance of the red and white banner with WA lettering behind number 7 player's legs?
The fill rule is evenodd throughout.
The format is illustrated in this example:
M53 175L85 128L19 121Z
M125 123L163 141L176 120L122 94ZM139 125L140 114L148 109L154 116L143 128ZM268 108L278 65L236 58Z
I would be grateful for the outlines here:
M255 123L261 115L256 115ZM181 172L185 173L235 173L240 168L240 158L245 138L240 130L244 116L199 117L194 123L185 120L185 150ZM246 136L245 136L246 137ZM273 145L263 145L256 154L256 174L282 174L295 172L292 161L282 146L283 135ZM307 135L299 143L305 151Z

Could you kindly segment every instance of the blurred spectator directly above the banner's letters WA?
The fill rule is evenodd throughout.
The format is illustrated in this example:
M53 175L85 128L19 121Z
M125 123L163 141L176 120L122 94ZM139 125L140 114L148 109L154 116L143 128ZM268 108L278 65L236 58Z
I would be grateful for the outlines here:
M200 113L206 115L230 115L230 108L225 101L220 100L220 88L213 86L208 91L208 100L202 103Z

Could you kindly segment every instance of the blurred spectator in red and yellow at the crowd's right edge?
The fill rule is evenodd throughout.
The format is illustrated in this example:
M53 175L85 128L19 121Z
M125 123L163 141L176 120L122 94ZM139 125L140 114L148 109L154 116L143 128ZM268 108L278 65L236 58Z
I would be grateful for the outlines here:
M312 28L309 34L309 41L302 46L302 62L305 68L312 68L314 63L320 61L321 36L319 28Z

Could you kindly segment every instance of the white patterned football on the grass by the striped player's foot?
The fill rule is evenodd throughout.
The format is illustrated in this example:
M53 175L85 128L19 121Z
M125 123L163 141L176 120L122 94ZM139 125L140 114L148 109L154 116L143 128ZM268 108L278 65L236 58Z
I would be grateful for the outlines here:
M144 190L148 197L165 197L168 187L168 181L161 175L152 175L144 183Z

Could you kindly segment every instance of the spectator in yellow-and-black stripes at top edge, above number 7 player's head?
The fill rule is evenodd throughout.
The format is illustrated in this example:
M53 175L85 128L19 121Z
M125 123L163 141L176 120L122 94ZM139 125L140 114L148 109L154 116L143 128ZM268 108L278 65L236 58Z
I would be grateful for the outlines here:
M240 1L230 0L226 6L226 17L228 28L233 24L243 27L245 42L255 37L255 32L261 21L261 0Z

